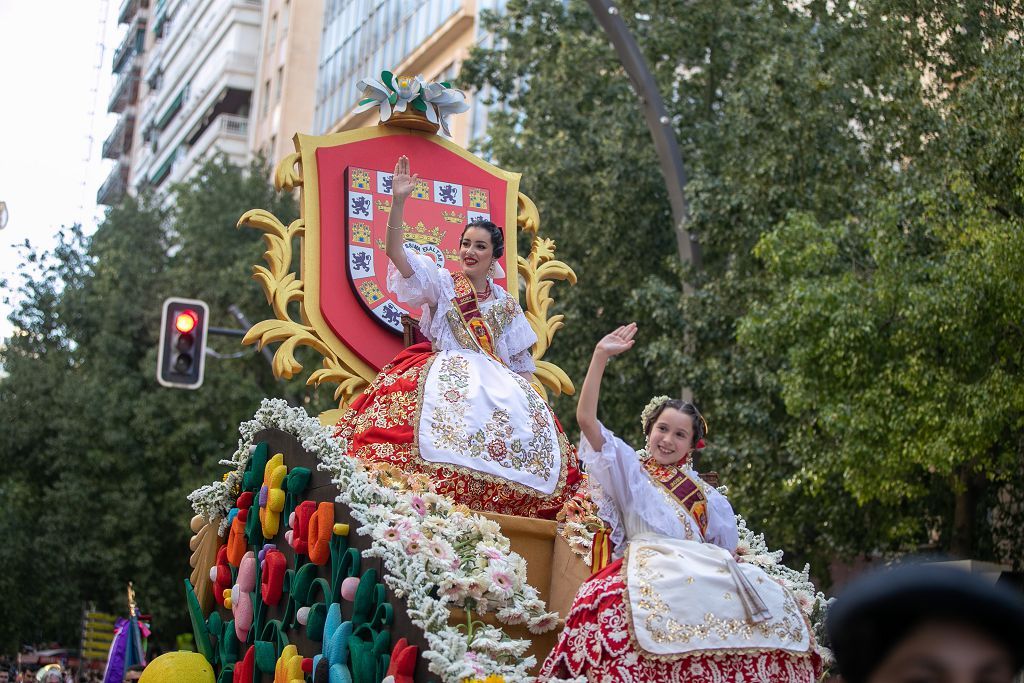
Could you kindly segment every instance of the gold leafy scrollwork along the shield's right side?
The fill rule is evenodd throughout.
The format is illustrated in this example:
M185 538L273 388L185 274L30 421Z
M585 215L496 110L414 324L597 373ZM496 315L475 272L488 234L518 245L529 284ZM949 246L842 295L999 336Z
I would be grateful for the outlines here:
M534 362L537 365L535 376L541 383L541 391L547 387L556 395L575 392L572 380L558 366L542 360L551 346L555 333L564 325L565 316L559 313L549 317L548 311L555 300L551 297L551 288L555 281L568 281L575 285L577 276L566 263L555 259L555 241L542 238L538 230L541 226L541 214L537 205L528 197L519 193L517 202L516 223L519 229L529 233L529 255L519 257L518 270L526 285L525 313L526 319L537 333L537 344L534 346ZM537 383L535 382L535 386Z

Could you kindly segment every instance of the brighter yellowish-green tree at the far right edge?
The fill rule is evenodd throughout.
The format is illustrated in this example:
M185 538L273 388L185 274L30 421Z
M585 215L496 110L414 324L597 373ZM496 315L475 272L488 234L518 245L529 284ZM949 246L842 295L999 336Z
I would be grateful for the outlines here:
M795 215L762 239L772 293L740 335L785 349L797 481L820 495L841 479L892 511L891 547L958 556L994 553L983 513L1024 464L1024 59L1014 42L990 48L872 210Z

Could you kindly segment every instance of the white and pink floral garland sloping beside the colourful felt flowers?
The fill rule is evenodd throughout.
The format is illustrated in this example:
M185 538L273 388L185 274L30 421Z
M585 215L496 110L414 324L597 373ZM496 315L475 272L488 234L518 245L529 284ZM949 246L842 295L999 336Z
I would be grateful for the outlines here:
M188 496L197 514L222 520L224 531L255 435L264 429L292 434L317 458L321 470L332 473L340 492L336 500L349 507L358 532L373 540L364 554L383 560L385 583L407 598L410 620L423 630L429 646L423 657L432 673L452 683L532 680L528 672L537 659L523 657L530 642L473 618L494 612L499 622L524 624L536 634L558 624L558 614L546 611L526 583L525 560L510 551L498 523L429 490L426 478L368 468L344 456L342 440L301 408L280 398L263 400L254 418L240 426L238 450L220 461L231 468L223 480ZM465 625L449 624L453 607L466 612Z

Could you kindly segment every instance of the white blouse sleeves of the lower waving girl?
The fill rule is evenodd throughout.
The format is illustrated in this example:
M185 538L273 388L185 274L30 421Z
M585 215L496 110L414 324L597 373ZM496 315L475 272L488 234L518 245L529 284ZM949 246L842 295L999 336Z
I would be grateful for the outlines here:
M600 427L604 445L595 451L587 437L583 437L580 460L590 477L591 498L597 505L598 515L611 526L614 554L622 555L626 542L641 533L686 539L686 528L677 514L677 506L665 500L644 471L633 446L604 425ZM703 540L734 552L739 535L732 505L714 486L702 481L700 484L708 498L708 530ZM699 530L694 540L700 540Z

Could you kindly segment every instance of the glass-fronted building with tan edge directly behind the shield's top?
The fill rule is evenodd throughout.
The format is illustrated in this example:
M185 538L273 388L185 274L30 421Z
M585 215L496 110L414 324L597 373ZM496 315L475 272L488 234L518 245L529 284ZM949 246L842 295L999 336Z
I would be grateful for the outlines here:
M479 20L484 9L504 11L505 0L325 0L313 132L372 125L376 112L352 113L356 84L385 69L454 80L470 48L489 39ZM481 137L486 115L471 102L453 117L455 141L465 146Z

